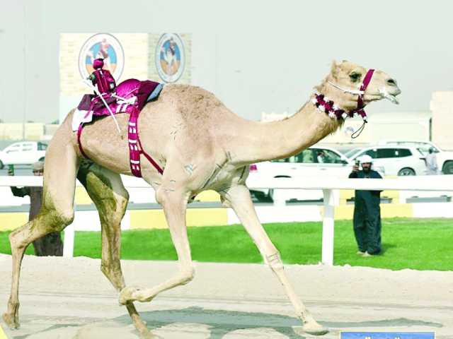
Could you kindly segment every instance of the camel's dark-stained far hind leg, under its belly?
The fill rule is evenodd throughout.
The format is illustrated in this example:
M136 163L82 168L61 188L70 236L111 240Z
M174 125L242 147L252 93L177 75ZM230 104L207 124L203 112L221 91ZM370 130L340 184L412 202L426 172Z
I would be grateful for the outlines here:
M129 194L122 184L120 174L96 164L82 164L77 178L95 203L101 220L101 271L117 292L120 292L125 287L120 263L121 220L125 215ZM125 306L142 338L156 338L149 333L134 304L127 302Z

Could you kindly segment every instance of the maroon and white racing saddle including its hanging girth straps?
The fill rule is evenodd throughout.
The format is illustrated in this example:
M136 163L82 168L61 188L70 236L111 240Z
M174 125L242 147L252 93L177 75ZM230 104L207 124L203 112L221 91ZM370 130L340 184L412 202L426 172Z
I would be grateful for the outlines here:
M144 152L138 133L138 117L140 111L147 102L156 100L156 98L159 97L163 87L164 84L156 83L154 81L128 79L117 85L114 93L107 93L104 97L105 102L107 102L108 107L113 114L129 114L127 136L129 139L130 168L135 177L142 177L140 155L144 155L144 157L156 167L159 173L162 174L163 172L163 169L161 169L152 157ZM96 119L96 117L105 116L110 116L110 112L108 112L108 109L105 107L101 98L90 94L86 94L82 97L79 106L74 111L71 124L72 130L77 131L79 149L86 158L88 157L84 153L80 141L83 126L84 124L93 121L93 119Z

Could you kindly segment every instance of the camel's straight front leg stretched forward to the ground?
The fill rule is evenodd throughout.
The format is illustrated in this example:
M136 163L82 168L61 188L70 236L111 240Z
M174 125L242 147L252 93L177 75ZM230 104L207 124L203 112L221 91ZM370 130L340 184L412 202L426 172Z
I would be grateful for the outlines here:
M302 301L297 297L297 294L285 273L282 260L280 259L280 253L270 241L268 234L258 220L248 188L243 185L232 186L226 191L221 191L219 193L234 209L239 220L241 220L243 227L245 227L246 231L253 239L253 242L255 242L258 247L265 262L268 263L275 275L277 275L280 283L285 287L285 292L294 306L297 316L302 320L303 331L314 335L328 333L326 328L314 320Z

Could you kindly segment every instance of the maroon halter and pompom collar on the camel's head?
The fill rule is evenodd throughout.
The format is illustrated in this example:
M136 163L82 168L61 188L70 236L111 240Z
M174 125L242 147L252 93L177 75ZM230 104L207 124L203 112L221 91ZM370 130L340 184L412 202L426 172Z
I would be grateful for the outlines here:
M362 85L360 85L360 90L348 90L347 88L341 88L338 85L335 85L329 81L333 87L338 88L339 90L343 90L345 93L352 93L357 94L357 108L353 109L352 111L346 112L344 109L340 109L335 103L330 100L328 97L321 93L315 93L315 97L313 100L313 104L321 111L326 112L329 117L337 118L337 119L346 119L347 117L354 117L355 115L360 115L362 119L367 122L367 113L365 113L365 103L363 102L363 95L365 95L365 90L371 81L373 76L374 69L369 69L365 77L363 78Z

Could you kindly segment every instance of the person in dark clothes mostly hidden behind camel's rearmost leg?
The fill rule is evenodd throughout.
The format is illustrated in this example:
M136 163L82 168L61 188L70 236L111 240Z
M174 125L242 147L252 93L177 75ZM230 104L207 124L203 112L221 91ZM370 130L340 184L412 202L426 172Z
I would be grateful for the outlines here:
M44 174L44 162L39 161L33 164L33 175L42 176ZM14 175L13 170L8 169L8 175ZM42 187L13 187L11 191L14 196L30 196L30 213L28 220L32 220L38 214L42 203ZM37 256L62 256L63 242L59 232L50 232L40 239L33 242L35 254Z

